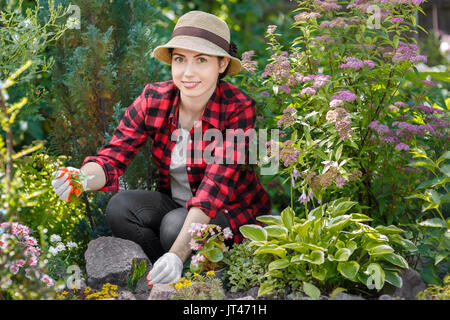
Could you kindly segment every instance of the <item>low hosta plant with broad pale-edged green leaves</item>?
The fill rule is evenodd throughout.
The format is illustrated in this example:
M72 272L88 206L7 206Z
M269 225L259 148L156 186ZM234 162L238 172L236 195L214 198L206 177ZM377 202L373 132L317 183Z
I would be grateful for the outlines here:
M408 263L393 246L413 251L414 244L398 227L373 228L366 224L371 221L368 216L348 213L355 204L340 198L310 210L304 218L287 207L280 216L257 217L265 227L242 226L253 254L270 254L273 259L258 295L272 291L274 278L316 298L319 288L363 284L381 290L386 282L401 287L399 272Z

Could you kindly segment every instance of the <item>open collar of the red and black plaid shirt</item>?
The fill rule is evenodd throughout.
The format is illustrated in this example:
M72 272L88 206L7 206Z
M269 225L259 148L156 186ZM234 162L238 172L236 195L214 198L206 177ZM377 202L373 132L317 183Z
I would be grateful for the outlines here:
M216 89L214 90L213 94L208 100L208 103L206 104L206 107L203 109L203 113L200 116L201 121L206 121L209 124L211 124L216 129L219 129L220 124L220 101L221 101L221 95L222 95L222 87L221 87L222 81L219 81L219 84L216 86ZM174 88L176 90L174 99L172 101L172 108L170 110L169 114L169 123L172 123L172 126L174 128L178 127L178 102L180 101L180 90L174 85Z

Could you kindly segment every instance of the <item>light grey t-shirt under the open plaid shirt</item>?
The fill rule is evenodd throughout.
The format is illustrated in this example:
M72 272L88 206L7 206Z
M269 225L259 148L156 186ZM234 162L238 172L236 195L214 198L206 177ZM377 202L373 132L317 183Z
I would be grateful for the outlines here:
M193 197L186 171L186 151L190 135L189 131L181 127L179 121L178 130L178 140L172 150L170 160L169 176L172 199L184 207L186 201Z

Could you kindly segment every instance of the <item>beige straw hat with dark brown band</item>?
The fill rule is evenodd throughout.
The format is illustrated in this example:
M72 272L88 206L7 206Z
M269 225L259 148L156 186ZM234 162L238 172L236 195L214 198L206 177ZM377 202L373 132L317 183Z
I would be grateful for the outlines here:
M171 64L168 48L180 48L228 57L230 64L227 75L232 75L241 70L241 61L230 55L230 43L230 29L225 21L213 14L194 10L178 19L169 42L156 47L153 56Z

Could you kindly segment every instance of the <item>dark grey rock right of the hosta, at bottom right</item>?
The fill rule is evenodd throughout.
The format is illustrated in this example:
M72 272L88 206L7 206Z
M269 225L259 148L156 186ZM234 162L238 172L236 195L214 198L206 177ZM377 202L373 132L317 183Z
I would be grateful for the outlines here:
M420 274L414 269L404 269L400 276L403 282L401 288L386 284L381 293L400 297L402 300L415 300L416 295L427 287Z

